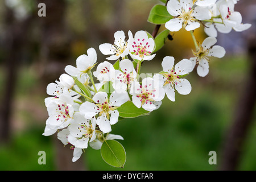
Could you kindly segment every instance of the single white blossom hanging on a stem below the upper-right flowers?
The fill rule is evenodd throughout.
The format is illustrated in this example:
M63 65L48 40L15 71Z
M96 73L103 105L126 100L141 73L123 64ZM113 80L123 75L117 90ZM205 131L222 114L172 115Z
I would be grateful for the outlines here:
M206 76L209 73L209 57L221 58L225 55L226 51L221 46L213 46L217 42L216 38L208 37L204 39L203 43L199 45L200 50L198 52L193 52L196 57L192 57L192 69L196 64L197 74L201 77Z

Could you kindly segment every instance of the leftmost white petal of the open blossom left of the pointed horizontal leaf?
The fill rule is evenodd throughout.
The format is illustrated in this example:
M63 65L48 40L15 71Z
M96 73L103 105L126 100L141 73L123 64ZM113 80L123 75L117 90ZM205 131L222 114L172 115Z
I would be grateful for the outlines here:
M94 117L98 113L98 107L91 102L84 102L81 104L79 111L81 114L84 114L86 119Z

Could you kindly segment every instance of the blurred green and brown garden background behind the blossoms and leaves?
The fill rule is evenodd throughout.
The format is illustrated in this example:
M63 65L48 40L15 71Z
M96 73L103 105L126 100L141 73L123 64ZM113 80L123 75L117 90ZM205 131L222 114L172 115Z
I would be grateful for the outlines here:
M46 4L46 17L38 4ZM48 118L46 86L59 79L65 65L93 47L98 63L105 60L98 46L112 43L114 32L151 32L147 22L158 0L2 0L0 1L0 170L255 170L256 169L256 2L235 6L250 30L218 34L226 49L223 59L210 61L209 75L187 76L192 92L167 97L150 115L123 119L112 126L122 135L127 161L124 169L109 166L100 150L88 148L72 163L73 152L42 135ZM162 29L160 29L162 30ZM141 72L158 73L164 56L176 61L192 56L187 31L144 61ZM195 31L202 42L206 35ZM46 152L46 165L38 152ZM208 163L216 151L217 164Z

